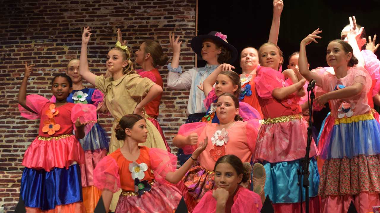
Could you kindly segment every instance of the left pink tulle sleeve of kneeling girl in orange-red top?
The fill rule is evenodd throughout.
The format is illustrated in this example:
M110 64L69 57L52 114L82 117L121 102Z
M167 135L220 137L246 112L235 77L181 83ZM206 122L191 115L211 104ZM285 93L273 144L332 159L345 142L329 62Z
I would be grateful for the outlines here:
M109 190L113 193L121 188L119 166L114 158L106 156L97 163L93 171L93 182L99 190Z

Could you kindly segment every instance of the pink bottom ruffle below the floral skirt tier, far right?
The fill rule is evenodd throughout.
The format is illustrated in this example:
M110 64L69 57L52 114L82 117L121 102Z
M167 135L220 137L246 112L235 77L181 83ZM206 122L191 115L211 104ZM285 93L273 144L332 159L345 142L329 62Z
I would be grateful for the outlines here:
M321 213L347 212L351 201L358 213L370 213L372 207L380 205L380 194L361 192L358 195L329 196L322 199Z

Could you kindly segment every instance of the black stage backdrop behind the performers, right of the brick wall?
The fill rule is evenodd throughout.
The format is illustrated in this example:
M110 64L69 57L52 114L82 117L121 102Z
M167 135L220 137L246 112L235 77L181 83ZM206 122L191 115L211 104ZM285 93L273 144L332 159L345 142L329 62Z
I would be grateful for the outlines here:
M317 28L323 32L318 44L307 45L307 59L310 69L327 66L326 48L329 41L340 38L340 32L349 23L348 17L355 16L368 36L379 37L380 1L335 1L317 0L300 1L285 0L281 14L280 33L277 44L284 54L282 69L287 69L288 57L299 50L299 43ZM198 1L198 35L210 31L220 31L227 35L230 44L241 52L247 46L256 49L268 41L272 24L273 5L271 0L233 0L228 3L215 0ZM380 49L380 48L379 48ZM375 53L380 56L380 50ZM238 58L233 66L241 74ZM204 66L205 61L198 60L198 67ZM314 125L319 130L321 122L329 112L328 104L325 109L315 112Z

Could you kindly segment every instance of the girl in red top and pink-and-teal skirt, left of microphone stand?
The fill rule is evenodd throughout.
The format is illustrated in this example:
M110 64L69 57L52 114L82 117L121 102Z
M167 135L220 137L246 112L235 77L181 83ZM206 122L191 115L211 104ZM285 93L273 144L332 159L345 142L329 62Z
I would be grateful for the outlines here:
M306 153L307 122L302 117L298 102L305 94L305 79L296 79L292 85L285 83L284 75L278 72L283 58L277 45L261 45L259 60L267 69L259 70L254 79L256 94L264 115L254 159L264 165L264 191L271 199L275 211L300 212L299 202L301 196L304 202L305 189L302 188L301 195L297 170L301 165L300 159L304 158ZM310 148L310 212L319 212L319 174L316 161L312 158L318 155L318 150L314 141Z

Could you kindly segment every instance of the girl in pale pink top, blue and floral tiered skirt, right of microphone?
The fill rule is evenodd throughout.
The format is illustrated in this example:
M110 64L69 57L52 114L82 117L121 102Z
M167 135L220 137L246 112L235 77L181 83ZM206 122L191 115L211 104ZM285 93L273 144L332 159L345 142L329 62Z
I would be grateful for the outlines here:
M325 68L309 71L306 45L321 38L319 33L317 29L301 41L299 71L307 80L316 80L326 92L315 102L321 106L329 102L334 118L320 156L326 159L318 192L322 212L347 212L353 201L359 213L366 213L380 204L380 125L367 104L372 80L363 68L363 56L359 53L355 58L353 54L359 52L355 42L357 32L353 28L347 34L352 47L338 39L327 47L326 61L335 74L319 75Z

